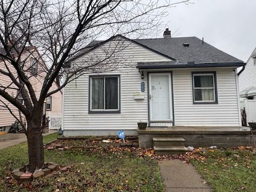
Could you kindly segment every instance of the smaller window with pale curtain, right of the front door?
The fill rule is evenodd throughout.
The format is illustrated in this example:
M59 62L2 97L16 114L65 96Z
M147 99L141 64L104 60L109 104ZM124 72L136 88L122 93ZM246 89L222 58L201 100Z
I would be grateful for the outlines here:
M215 73L193 73L194 103L217 102Z

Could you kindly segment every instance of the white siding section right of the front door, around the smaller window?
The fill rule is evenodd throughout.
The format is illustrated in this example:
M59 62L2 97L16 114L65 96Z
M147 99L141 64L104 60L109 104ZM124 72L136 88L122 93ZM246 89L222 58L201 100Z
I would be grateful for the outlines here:
M191 70L173 71L175 125L239 126L236 73L234 69L214 71L217 76L218 104L201 105L193 104Z

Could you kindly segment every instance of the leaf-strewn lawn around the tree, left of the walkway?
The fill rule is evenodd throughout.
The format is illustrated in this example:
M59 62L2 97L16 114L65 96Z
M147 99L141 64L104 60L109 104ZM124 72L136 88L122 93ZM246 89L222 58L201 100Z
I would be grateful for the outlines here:
M44 143L56 137L57 134L47 135ZM31 183L6 179L14 168L27 163L26 143L0 150L0 157L0 191L163 191L156 161L129 150L45 150L45 161L73 167Z

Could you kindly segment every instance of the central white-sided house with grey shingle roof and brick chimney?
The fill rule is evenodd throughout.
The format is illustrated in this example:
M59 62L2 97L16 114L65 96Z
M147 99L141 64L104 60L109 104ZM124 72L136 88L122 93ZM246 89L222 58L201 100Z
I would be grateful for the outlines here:
M117 35L79 53L71 65L87 66L122 47L114 70L82 75L65 87L63 134L137 134L138 122L188 131L241 126L237 68L245 63L197 37L165 36L169 32L154 39Z

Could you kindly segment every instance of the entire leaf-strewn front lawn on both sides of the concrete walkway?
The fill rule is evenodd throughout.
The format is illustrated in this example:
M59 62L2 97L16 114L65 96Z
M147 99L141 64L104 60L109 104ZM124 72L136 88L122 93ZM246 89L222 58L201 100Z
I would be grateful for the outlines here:
M47 135L44 143L56 137ZM127 147L45 150L46 162L73 167L48 179L19 183L9 177L14 168L28 161L27 144L22 143L0 150L0 191L164 191L155 159L173 158L192 163L214 191L255 191L254 152L252 147L197 148L174 156L157 156L152 149Z

